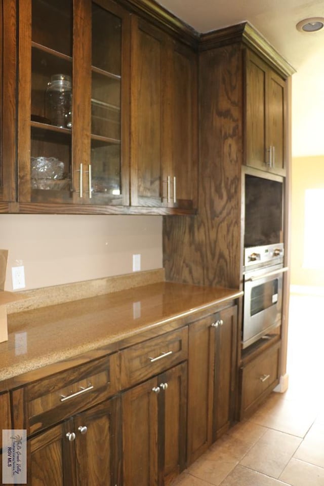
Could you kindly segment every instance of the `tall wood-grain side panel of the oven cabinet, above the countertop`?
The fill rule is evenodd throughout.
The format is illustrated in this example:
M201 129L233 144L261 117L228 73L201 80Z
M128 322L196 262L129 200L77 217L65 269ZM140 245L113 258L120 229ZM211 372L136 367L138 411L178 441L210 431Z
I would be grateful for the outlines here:
M198 216L164 219L166 278L239 288L242 58L238 45L200 53Z

